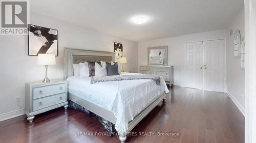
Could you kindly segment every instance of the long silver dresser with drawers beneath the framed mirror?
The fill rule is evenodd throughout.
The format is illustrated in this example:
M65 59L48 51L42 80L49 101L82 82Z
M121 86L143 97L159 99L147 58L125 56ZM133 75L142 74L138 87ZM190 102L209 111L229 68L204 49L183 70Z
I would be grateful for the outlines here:
M173 66L140 65L140 73L160 75L169 85L173 84L173 69Z

